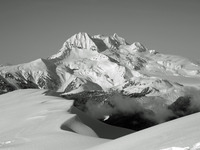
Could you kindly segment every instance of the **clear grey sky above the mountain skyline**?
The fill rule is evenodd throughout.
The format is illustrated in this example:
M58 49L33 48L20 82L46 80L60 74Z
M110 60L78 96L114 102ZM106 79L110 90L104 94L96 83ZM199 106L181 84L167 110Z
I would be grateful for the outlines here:
M200 0L0 0L0 64L47 58L78 32L200 60Z

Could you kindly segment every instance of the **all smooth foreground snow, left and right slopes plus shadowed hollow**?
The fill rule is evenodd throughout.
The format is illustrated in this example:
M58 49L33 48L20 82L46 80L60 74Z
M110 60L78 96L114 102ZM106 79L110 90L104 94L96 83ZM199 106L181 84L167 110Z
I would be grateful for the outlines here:
M75 108L71 111L72 100L50 94L53 95L27 89L0 96L0 149L190 150L183 148L200 142L200 113L130 134L131 131L103 124Z

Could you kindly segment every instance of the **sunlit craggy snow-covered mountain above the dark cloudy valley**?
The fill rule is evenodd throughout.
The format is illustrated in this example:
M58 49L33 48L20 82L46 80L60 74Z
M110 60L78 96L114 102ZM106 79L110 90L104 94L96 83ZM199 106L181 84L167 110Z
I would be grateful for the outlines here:
M141 43L128 44L113 36L78 33L47 59L1 66L1 91L43 88L59 92L110 89L149 94L181 87L174 78L198 78L200 66L186 58L148 50Z

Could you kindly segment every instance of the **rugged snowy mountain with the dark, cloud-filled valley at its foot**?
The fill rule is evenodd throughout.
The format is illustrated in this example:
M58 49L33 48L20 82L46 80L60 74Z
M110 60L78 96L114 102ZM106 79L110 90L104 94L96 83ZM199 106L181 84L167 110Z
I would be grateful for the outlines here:
M136 119L128 127L134 130L144 122L152 126L198 112L200 107L193 111L192 106L199 91L187 86L199 83L198 63L149 50L139 42L129 44L116 33L80 32L46 59L0 66L1 94L26 88L55 91L76 99L76 107L109 124L126 127L124 122ZM185 114L179 112L180 97L192 107L185 108Z

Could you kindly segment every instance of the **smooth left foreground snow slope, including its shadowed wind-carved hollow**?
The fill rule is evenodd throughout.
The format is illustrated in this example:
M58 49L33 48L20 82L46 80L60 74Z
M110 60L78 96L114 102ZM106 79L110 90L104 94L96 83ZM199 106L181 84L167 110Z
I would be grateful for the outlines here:
M99 135L117 138L131 133L88 118L80 111L71 114L72 103L46 96L45 90L17 90L1 95L0 149L83 150L109 141Z

